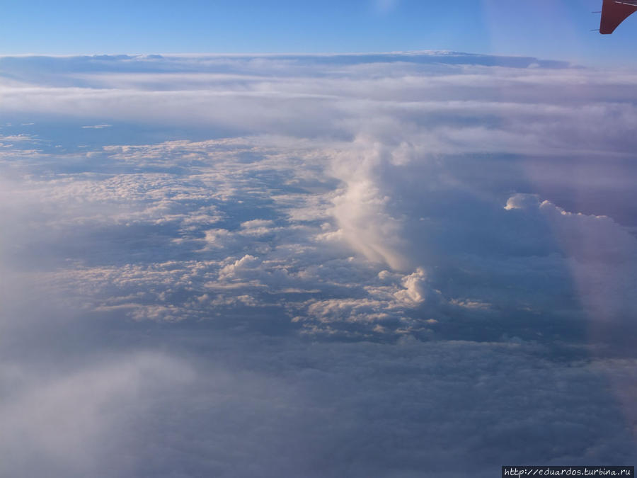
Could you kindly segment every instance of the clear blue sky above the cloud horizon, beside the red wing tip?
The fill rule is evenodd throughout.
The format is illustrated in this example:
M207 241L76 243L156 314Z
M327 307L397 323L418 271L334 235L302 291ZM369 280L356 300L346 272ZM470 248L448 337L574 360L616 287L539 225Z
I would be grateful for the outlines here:
M0 54L456 50L631 61L637 17L602 37L602 0L5 1Z

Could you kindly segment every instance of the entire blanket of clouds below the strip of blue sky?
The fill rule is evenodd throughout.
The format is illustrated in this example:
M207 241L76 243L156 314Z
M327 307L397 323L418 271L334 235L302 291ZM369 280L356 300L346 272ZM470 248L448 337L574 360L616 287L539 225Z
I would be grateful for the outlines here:
M637 457L637 72L0 58L0 474Z

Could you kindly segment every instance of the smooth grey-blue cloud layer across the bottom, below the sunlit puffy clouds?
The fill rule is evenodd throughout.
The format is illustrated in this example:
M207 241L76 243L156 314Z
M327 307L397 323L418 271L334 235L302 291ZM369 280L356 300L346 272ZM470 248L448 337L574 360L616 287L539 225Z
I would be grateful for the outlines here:
M83 363L53 369L5 360L1 470L487 477L501 462L634 457L609 382L634 382L633 360L563 360L519 343L299 343L202 331L140 341L129 329L110 355L82 353ZM144 351L149 341L163 351Z

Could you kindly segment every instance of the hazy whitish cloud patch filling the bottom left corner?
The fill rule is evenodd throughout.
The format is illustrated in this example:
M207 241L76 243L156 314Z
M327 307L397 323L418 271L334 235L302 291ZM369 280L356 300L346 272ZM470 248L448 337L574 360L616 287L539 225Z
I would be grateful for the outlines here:
M134 434L136 417L147 413L155 394L195 379L188 365L156 353L127 355L62 376L39 375L18 366L13 380L20 386L0 406L3 474L103 476L113 451L124 458L111 463L111 470L125 466L117 437L126 441Z

